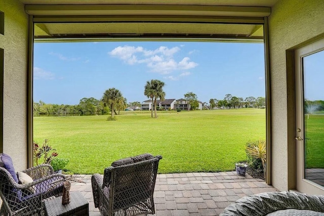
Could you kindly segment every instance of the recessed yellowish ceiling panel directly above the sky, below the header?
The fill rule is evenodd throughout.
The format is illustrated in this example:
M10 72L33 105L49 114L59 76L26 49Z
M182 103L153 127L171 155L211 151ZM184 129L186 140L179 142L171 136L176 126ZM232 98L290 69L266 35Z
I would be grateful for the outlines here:
M211 23L36 23L35 38L191 37L262 39L262 25Z

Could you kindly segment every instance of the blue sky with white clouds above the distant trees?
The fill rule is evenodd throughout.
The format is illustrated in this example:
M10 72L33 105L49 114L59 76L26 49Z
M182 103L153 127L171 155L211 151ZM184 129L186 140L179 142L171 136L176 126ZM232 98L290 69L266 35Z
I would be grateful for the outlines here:
M101 99L118 89L128 102L144 101L147 80L166 83L166 99L193 92L198 100L226 94L265 97L264 47L221 42L35 43L33 100L51 104Z

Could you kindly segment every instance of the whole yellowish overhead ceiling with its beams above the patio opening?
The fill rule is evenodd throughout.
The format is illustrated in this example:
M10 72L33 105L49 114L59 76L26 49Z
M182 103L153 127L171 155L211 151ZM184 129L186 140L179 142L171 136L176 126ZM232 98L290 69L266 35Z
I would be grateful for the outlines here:
M20 1L26 5L26 13L34 15L35 39L186 37L261 41L263 18L270 15L271 6L278 0Z

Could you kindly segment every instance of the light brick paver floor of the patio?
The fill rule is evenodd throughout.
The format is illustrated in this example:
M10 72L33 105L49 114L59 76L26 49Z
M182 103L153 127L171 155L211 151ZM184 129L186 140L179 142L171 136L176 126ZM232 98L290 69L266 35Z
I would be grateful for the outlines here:
M82 175L83 183L72 183L71 191L81 191L89 200L89 214L100 215L93 202L91 175ZM154 202L159 215L218 215L233 201L246 195L278 191L261 179L229 172L159 174Z

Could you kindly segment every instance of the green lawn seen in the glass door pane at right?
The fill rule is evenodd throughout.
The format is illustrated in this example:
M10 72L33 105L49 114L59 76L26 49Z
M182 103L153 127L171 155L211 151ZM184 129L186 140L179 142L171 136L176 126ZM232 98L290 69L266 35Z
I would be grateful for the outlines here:
M305 116L306 168L324 168L324 115Z

